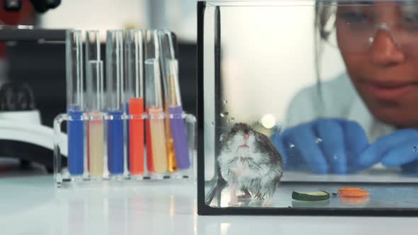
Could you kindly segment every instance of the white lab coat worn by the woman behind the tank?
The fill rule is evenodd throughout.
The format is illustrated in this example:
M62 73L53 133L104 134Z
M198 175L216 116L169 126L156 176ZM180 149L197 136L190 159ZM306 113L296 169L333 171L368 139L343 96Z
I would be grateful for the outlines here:
M318 92L317 85L310 86L298 92L290 101L285 128L309 122L318 117L339 117L358 122L366 131L369 142L374 142L378 137L395 130L395 127L375 120L361 97L358 96L347 74L341 74L329 81L322 81L320 86L321 93Z

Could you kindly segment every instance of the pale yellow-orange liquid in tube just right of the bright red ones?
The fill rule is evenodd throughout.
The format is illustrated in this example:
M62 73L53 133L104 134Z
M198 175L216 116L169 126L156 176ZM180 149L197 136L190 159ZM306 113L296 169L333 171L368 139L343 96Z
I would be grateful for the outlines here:
M161 118L162 108L149 108L150 117L149 126L151 129L151 144L152 144L152 162L154 163L154 171L163 173L167 171L167 156L166 156L166 137L164 132L164 118Z

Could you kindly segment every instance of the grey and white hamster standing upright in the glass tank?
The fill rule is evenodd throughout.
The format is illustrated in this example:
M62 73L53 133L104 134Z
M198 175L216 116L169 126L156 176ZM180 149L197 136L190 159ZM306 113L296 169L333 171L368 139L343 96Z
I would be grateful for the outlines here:
M264 134L236 123L220 137L218 164L232 194L260 200L271 198L283 176L283 158Z

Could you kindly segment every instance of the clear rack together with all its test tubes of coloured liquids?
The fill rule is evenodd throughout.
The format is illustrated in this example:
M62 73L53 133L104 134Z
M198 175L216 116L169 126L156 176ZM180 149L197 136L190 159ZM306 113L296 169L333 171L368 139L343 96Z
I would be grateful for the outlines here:
M86 31L83 42L81 30L67 30L67 113L54 122L57 186L195 178L196 117L181 106L172 33L107 30L106 64L99 33Z

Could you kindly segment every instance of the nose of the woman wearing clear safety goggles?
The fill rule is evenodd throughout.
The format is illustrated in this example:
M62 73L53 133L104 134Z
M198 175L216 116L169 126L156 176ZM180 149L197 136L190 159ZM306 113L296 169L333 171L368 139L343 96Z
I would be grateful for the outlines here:
M380 29L375 33L370 53L371 61L379 67L390 67L405 61L404 53L388 30Z

